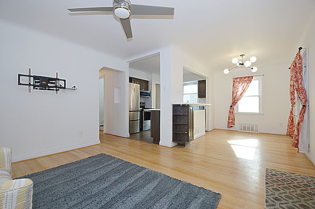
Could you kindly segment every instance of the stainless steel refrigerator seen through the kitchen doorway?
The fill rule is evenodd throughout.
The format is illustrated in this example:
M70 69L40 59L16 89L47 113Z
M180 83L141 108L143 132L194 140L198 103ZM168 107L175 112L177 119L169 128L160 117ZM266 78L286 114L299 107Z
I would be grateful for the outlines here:
M140 85L129 83L129 134L140 131Z

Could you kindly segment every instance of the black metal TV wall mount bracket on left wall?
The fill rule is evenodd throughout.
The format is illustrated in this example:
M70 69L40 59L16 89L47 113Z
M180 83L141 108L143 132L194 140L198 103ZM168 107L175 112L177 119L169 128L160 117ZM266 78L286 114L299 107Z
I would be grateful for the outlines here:
M21 78L24 77L28 78L28 83L21 82ZM58 78L58 72L56 72L56 78L35 76L31 75L31 68L29 68L29 75L18 74L18 85L29 86L29 92L31 92L32 87L36 90L56 91L56 94L58 94L60 89L77 90L76 86L72 86L72 88L66 88L65 79Z

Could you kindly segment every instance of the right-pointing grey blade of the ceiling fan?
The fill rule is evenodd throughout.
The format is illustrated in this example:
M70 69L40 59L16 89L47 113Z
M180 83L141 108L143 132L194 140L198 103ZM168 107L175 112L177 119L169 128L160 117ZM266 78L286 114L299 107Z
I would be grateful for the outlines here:
M174 15L173 7L130 4L132 15Z

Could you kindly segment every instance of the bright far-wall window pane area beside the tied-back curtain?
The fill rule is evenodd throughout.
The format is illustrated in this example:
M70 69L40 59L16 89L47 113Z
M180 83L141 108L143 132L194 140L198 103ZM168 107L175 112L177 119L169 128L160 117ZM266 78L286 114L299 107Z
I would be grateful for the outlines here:
M254 76L250 87L235 106L236 113L262 114L262 76Z

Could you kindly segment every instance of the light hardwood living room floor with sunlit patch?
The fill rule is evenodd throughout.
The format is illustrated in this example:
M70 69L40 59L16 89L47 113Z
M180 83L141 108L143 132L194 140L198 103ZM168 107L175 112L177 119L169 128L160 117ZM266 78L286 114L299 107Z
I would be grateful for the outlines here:
M15 162L13 178L105 153L221 193L219 209L263 209L265 168L315 177L284 135L213 130L173 148L103 134L99 145ZM243 158L242 158L243 157Z

